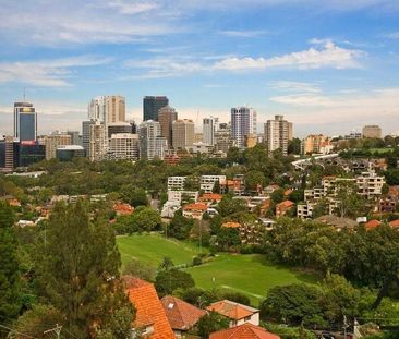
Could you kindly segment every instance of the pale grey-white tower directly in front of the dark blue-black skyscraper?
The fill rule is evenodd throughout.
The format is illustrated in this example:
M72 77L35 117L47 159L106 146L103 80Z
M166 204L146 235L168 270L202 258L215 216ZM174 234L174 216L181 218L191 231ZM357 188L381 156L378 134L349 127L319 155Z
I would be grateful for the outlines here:
M159 154L158 138L166 138L160 136L160 124L158 121L147 120L140 124L140 157L147 160L153 160Z

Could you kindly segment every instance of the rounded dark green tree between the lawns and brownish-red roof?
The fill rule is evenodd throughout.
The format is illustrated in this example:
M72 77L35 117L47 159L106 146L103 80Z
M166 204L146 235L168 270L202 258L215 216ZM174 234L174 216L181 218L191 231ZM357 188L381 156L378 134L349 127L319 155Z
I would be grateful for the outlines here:
M155 278L155 288L159 296L172 294L177 289L188 289L195 286L192 276L176 268L158 271Z

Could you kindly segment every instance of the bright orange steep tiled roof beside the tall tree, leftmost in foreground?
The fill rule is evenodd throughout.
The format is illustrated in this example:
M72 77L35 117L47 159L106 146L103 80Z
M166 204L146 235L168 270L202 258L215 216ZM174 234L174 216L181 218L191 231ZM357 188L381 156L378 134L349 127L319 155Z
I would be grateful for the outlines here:
M131 276L123 277L129 300L136 308L133 326L154 326L150 339L174 339L174 334L153 283Z

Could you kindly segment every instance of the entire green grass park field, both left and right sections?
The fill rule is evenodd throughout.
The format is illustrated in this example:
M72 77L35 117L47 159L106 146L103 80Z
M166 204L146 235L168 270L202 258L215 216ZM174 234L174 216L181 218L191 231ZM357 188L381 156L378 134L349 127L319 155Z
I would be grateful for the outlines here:
M160 235L132 235L117 239L122 264L131 258L157 267L165 256L176 265L191 263L198 249L190 243L165 239ZM257 306L266 291L275 286L294 282L316 283L311 274L278 266L258 254L219 254L208 263L186 269L197 287L226 289L247 295Z

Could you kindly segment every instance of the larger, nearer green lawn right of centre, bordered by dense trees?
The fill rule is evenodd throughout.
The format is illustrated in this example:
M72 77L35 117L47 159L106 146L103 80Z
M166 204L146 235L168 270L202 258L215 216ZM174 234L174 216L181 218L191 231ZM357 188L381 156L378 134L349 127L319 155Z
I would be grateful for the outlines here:
M317 282L317 278L311 274L271 264L259 254L219 254L211 262L191 267L188 271L196 286L244 293L255 306L265 298L266 291L275 286Z

